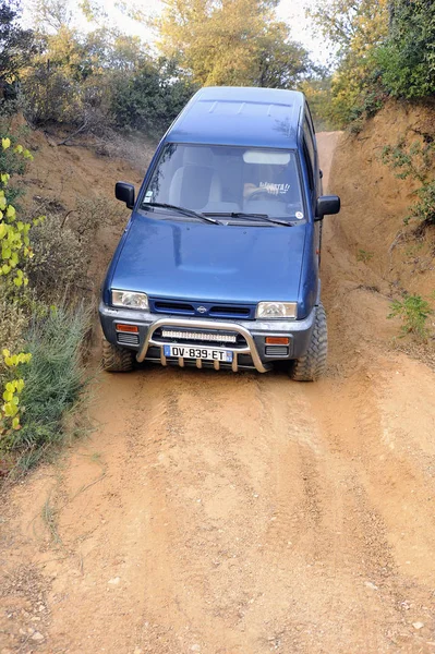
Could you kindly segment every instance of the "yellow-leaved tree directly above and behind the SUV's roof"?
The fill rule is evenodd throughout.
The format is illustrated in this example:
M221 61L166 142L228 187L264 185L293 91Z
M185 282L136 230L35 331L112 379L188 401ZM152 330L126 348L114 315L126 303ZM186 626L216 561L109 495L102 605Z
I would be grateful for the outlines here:
M159 47L201 85L294 86L307 52L275 17L277 0L167 0Z

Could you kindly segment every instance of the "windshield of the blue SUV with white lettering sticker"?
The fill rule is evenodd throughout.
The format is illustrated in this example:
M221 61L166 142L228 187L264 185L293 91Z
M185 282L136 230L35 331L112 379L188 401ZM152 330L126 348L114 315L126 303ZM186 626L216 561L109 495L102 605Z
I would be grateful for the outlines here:
M210 216L257 214L304 221L293 150L168 144L145 190L143 208L153 203Z

